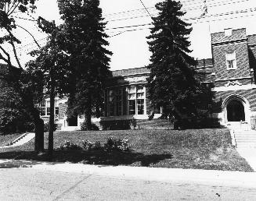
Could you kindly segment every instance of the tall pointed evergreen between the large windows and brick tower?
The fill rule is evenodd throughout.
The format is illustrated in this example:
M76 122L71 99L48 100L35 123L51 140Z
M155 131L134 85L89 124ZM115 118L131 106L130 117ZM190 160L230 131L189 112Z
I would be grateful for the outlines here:
M153 18L150 41L149 98L153 108L163 107L164 115L180 119L197 115L200 82L197 62L188 54L190 24L181 18L182 4L173 0L157 3L159 15ZM176 126L175 126L176 127Z

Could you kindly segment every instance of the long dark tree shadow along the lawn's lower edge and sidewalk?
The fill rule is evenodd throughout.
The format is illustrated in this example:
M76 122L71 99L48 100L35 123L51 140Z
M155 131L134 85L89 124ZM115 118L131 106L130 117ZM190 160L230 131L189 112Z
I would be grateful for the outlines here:
M150 164L157 164L160 160L171 159L169 153L143 154L135 152L106 152L103 150L55 150L51 162L48 155L35 155L33 151L5 152L0 153L2 160L0 168L29 168L35 164L52 164L52 162L71 162L82 164L101 165L134 165L148 167Z

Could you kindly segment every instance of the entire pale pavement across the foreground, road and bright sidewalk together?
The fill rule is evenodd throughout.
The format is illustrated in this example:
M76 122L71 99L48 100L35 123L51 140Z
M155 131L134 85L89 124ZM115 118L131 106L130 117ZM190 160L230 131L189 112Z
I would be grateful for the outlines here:
M256 173L19 162L0 168L0 200L256 200Z

